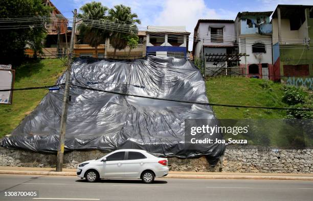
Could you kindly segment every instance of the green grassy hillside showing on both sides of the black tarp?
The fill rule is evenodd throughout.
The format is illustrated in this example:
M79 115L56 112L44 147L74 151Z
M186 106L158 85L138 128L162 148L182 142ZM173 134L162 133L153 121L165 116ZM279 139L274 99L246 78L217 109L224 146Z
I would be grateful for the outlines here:
M15 88L55 84L64 70L58 59L29 62L16 69ZM206 82L210 103L285 107L281 84L247 78L212 78ZM9 134L28 115L48 91L14 91L12 105L0 105L0 137ZM218 118L282 118L285 111L213 107Z

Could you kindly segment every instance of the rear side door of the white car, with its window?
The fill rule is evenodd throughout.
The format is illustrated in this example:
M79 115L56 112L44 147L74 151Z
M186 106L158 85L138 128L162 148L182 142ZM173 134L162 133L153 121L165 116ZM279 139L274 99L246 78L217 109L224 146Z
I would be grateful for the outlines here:
M123 161L125 165L125 177L139 178L142 171L146 156L140 152L128 152L127 160Z

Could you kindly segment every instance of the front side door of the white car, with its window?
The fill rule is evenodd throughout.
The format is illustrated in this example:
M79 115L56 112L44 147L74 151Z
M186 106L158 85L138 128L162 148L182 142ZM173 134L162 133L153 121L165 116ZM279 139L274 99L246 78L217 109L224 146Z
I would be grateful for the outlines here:
M106 157L102 168L103 177L124 177L125 154L126 152L117 152Z

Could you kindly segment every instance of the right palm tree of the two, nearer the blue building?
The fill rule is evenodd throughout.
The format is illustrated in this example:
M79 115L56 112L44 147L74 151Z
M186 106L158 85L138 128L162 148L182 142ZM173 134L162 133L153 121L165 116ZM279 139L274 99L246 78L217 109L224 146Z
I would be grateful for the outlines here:
M110 44L114 47L114 57L117 49L127 47L127 37L137 35L138 28L136 23L141 21L136 13L131 13L131 8L124 5L114 6L108 11L109 19L114 23L115 31L111 31Z

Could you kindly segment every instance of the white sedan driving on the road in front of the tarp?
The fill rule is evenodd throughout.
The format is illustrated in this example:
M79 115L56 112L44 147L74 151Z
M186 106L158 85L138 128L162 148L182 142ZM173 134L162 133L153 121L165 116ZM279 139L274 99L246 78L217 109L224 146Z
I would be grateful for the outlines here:
M77 167L77 176L88 182L102 178L137 178L152 183L168 174L167 159L140 149L119 149L101 159L85 161Z

